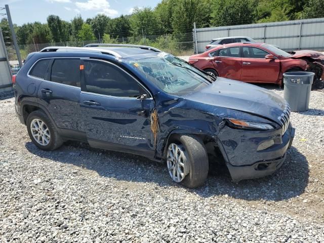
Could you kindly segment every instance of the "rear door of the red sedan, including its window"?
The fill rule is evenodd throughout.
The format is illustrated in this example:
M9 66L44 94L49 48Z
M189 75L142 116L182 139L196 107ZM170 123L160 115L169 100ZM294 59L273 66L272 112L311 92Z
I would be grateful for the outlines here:
M240 80L242 60L239 55L239 47L221 48L211 53L212 60L219 76Z

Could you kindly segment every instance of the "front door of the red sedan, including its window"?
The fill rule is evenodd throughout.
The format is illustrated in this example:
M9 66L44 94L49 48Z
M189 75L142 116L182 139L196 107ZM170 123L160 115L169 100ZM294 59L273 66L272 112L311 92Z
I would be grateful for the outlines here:
M268 52L256 47L242 47L241 81L256 83L276 83L280 61L266 59Z

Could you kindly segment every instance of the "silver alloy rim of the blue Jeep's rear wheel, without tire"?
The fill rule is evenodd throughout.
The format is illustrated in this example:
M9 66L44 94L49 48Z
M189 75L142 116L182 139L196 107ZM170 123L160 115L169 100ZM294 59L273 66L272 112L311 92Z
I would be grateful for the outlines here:
M50 143L51 140L51 133L43 120L35 118L30 123L30 131L32 134L32 137L35 139L35 141L42 145L46 146Z

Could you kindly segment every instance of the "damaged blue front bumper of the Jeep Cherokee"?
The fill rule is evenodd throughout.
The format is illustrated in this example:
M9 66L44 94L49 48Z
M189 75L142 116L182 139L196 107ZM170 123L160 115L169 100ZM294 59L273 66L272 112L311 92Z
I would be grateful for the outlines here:
M233 181L241 181L245 179L253 179L264 177L272 174L279 169L286 159L287 149L291 147L295 136L295 129L289 125L281 142L271 147L257 151L258 145L267 139L274 138L273 132L257 132L236 130L235 143L233 140L221 141L222 153L225 156L226 165ZM235 135L231 138L234 138ZM235 144L236 146L233 146Z

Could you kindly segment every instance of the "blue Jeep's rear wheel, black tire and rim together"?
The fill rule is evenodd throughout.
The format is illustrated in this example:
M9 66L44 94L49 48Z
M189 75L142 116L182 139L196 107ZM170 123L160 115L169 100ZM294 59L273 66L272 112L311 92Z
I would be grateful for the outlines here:
M63 144L52 121L42 110L31 112L27 117L26 126L31 141L42 150L54 150Z

